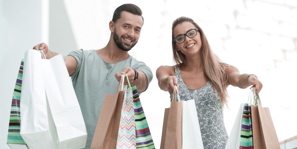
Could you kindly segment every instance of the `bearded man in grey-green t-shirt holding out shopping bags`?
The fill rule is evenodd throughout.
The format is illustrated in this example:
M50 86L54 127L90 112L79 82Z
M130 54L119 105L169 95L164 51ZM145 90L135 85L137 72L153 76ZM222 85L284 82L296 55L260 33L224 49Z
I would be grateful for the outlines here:
M116 92L121 74L127 74L131 86L136 86L139 92L145 91L153 78L151 69L145 63L128 54L139 39L143 25L141 15L142 11L134 4L119 6L109 22L111 35L104 48L81 49L64 56L87 128L86 148L91 146L105 94ZM33 49L43 50L48 59L57 55L49 51L44 43L34 46Z

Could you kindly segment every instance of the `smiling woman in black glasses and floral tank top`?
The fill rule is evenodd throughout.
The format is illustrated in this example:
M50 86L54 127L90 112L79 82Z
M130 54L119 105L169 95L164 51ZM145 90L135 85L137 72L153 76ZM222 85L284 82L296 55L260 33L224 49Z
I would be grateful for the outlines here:
M181 100L194 99L204 148L224 149L228 140L223 120L227 87L245 89L252 85L258 94L262 83L256 75L240 74L234 66L220 61L191 18L173 21L172 51L176 65L157 69L159 87L172 94L177 85Z

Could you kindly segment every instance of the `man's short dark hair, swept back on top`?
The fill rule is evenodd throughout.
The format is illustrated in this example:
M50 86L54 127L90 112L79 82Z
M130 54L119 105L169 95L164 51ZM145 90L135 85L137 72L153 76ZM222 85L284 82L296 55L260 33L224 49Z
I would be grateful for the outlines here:
M142 11L138 6L136 6L134 4L123 4L123 5L119 6L119 7L117 7L116 10L114 10L111 21L116 22L116 20L121 18L121 14L122 14L123 11L127 11L129 13L134 14L134 15L140 15L141 18L142 18L142 25L143 25Z

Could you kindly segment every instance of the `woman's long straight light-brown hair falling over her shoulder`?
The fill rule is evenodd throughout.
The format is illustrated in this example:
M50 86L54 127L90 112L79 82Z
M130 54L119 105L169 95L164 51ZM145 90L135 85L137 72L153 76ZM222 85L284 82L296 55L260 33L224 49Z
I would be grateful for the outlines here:
M229 66L226 63L223 63L220 58L216 54L212 52L211 47L209 46L209 43L206 39L206 36L204 35L202 29L194 22L193 19L188 17L179 17L172 23L172 52L173 52L173 59L176 64L179 66L183 66L184 62L186 61L186 56L176 49L176 42L174 41L174 35L173 30L178 24L181 24L183 22L190 22L194 24L195 27L197 27L198 32L200 32L200 38L201 38L201 49L200 49L200 55L201 55L201 62L203 67L203 72L206 78L210 81L213 88L218 92L222 105L225 105L227 103L227 86L228 84L227 79L228 76L225 72L225 69L227 66Z

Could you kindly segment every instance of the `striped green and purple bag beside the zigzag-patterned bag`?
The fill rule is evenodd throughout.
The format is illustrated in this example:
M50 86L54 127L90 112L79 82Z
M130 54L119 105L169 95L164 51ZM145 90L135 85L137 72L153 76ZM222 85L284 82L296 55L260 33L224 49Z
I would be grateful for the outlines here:
M150 134L150 128L145 118L136 86L132 87L132 91L136 127L136 148L153 149L155 145L152 135Z

